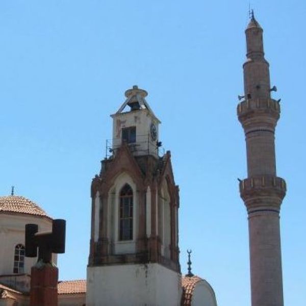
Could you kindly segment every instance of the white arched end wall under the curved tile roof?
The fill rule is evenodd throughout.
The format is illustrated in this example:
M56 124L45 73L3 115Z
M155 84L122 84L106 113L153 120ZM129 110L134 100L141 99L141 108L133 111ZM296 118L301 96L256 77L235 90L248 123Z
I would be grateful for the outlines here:
M212 287L206 282L198 282L194 288L191 306L217 306Z

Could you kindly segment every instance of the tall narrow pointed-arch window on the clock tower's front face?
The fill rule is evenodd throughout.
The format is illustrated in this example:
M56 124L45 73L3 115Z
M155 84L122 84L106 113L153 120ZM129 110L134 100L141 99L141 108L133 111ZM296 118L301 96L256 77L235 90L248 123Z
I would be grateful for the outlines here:
M120 191L119 240L133 240L133 190L127 184Z

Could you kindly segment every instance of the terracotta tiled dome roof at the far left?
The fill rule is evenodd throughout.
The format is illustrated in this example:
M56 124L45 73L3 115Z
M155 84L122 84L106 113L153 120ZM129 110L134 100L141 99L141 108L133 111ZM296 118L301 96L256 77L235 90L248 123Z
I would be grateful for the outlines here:
M0 213L29 214L50 218L36 203L23 196L0 196Z

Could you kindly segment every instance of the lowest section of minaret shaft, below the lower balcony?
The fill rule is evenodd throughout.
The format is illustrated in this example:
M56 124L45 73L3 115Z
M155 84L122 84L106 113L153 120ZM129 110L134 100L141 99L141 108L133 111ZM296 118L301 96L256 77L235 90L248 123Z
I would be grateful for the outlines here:
M283 306L281 237L277 212L249 214L252 306Z

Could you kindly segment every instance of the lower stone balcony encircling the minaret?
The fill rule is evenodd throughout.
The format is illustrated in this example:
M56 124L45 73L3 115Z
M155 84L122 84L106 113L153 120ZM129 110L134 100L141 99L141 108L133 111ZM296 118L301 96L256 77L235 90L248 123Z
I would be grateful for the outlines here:
M272 206L273 199L277 199L275 205L278 206L285 197L287 186L282 177L259 175L239 180L239 189L240 196L245 201L247 207L271 206L269 198L272 199Z

